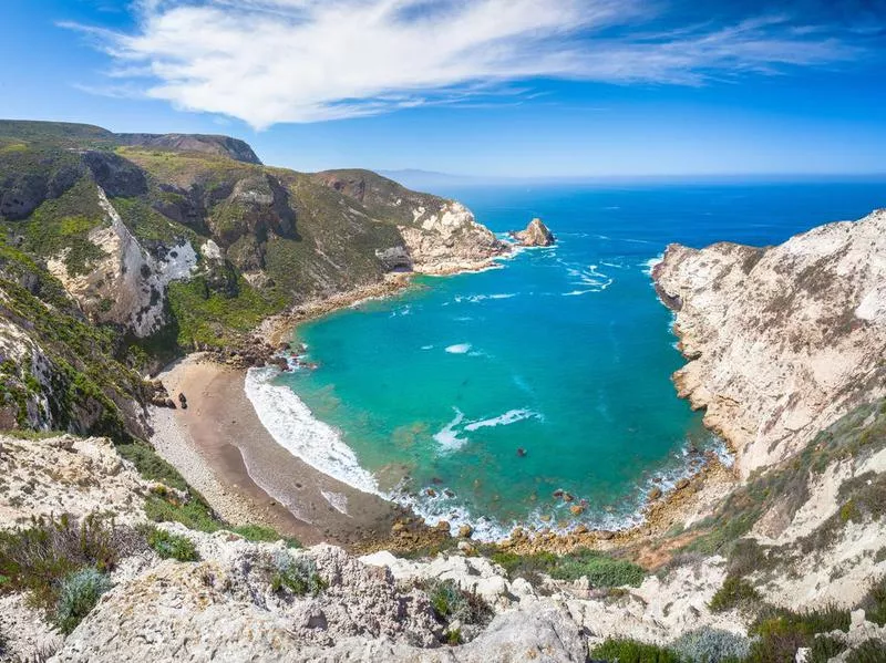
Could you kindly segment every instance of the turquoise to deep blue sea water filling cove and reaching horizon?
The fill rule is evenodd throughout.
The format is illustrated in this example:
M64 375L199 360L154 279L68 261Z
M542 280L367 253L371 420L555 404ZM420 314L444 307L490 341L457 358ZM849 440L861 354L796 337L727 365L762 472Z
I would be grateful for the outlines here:
M496 536L524 522L624 525L653 479L667 486L718 447L670 381L683 361L649 277L668 242L775 244L863 216L886 191L818 183L442 193L497 232L540 216L559 242L501 269L419 278L402 296L306 324L298 340L320 367L276 383L337 429L382 493ZM556 489L586 510L574 515Z

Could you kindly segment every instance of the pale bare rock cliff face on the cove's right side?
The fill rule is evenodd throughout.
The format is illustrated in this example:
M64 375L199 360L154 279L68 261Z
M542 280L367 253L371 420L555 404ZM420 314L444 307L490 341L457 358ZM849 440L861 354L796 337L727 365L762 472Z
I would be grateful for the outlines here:
M690 360L679 393L745 477L886 391L886 210L769 249L671 245L653 278Z

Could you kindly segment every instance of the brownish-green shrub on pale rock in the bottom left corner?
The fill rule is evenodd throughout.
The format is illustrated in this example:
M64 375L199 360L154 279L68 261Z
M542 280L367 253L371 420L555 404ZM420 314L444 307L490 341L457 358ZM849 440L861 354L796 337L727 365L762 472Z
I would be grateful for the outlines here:
M7 578L0 592L29 592L34 607L51 610L66 577L84 568L110 571L140 549L144 541L134 530L105 518L38 518L28 529L0 531L0 574Z

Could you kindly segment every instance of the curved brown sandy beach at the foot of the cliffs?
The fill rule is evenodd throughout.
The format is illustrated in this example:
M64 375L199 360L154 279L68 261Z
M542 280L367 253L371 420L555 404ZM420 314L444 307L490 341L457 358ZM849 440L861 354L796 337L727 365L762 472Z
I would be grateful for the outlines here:
M403 510L279 446L246 397L245 372L197 354L158 377L176 404L184 393L188 406L152 408L152 443L222 518L267 525L306 545L362 547L390 537Z

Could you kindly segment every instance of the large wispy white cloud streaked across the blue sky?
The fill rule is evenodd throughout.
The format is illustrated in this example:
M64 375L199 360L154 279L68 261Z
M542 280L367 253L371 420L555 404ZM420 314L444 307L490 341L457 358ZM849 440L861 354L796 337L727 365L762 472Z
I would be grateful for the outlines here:
M112 75L143 77L147 96L257 128L488 103L540 77L699 85L858 54L784 15L657 30L666 9L641 0L142 0L131 33L69 27L102 44Z

